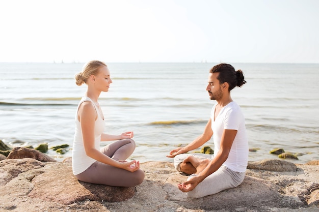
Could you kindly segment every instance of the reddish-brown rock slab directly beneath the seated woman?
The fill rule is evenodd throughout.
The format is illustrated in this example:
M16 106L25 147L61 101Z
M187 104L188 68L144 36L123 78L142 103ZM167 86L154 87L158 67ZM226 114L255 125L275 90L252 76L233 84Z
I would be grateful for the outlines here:
M79 181L74 177L69 162L50 166L48 171L33 178L34 189L29 193L29 197L69 205L86 199L118 202L135 194L134 187L112 187Z

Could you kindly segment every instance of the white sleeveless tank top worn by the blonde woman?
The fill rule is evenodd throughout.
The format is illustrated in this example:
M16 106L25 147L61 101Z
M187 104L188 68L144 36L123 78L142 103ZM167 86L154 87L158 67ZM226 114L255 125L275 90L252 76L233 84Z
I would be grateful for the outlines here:
M77 110L75 113L75 134L72 149L72 170L74 175L84 172L96 161L93 158L87 156L85 153L81 124L77 119L78 108L85 101L92 102L97 112L97 119L95 120L94 126L94 140L96 149L100 148L101 134L104 132L105 129L105 123L102 118L102 114L100 114L100 110L96 108L94 102L89 97L83 97L81 101L78 103Z

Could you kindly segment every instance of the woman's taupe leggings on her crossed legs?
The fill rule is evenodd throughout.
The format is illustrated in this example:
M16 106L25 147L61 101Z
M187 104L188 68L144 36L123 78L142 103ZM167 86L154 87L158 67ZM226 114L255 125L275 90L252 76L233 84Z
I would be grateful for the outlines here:
M134 152L134 149L134 140L122 139L104 146L101 148L101 152L114 160L124 161ZM132 187L143 182L144 172L141 169L130 172L96 161L87 170L75 175L75 177L81 181L92 184Z

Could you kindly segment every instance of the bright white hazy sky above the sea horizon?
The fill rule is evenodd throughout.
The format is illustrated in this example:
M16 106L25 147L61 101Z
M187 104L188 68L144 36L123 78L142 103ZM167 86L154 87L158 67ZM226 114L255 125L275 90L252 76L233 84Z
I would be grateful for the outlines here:
M319 63L317 0L0 0L0 63Z

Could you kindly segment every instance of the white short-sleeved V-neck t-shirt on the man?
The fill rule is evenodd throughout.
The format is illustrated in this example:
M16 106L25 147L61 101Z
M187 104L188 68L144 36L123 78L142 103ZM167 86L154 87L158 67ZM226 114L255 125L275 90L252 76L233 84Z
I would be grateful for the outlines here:
M214 112L217 103L212 107L211 129L214 139L214 155L220 150L221 138L225 130L237 130L229 155L223 166L236 172L245 172L248 164L248 140L246 135L245 118L240 106L230 102L221 109L214 121Z

